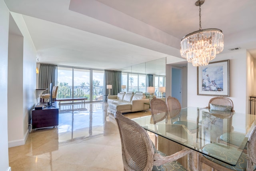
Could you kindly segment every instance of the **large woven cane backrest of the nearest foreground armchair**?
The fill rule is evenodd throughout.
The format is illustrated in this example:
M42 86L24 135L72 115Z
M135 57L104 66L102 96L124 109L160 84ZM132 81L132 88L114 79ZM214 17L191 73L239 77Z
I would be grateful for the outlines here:
M114 115L121 138L124 169L126 171L151 171L154 148L148 133L138 123L124 117L120 111Z

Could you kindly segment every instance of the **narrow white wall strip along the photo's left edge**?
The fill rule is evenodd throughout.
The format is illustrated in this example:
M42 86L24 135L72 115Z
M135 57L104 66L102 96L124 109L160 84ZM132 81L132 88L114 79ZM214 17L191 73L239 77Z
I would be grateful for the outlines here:
M8 159L8 133L7 133L7 74L8 74L8 32L9 10L0 0L0 171L10 170Z

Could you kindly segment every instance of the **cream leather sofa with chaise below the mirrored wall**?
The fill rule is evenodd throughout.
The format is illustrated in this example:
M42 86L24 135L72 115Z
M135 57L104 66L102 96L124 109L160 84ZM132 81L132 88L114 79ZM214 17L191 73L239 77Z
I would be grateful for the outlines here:
M122 113L142 111L149 109L149 99L143 93L118 93L118 95L108 95L108 111L114 113L121 111Z

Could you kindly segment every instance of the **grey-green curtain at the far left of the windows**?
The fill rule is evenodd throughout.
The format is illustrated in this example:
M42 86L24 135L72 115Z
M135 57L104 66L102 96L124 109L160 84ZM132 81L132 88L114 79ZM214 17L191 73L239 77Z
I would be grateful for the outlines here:
M52 86L57 86L58 67L53 64L40 64L38 88L50 89L50 83Z

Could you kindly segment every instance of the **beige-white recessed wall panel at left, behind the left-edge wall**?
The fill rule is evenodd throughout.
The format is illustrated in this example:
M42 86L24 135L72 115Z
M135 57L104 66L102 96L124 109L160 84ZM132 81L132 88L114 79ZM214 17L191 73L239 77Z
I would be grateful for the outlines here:
M12 20L12 19L10 19ZM23 37L9 34L8 43L8 141L23 139ZM15 68L15 70L14 70ZM17 115L19 113L19 115ZM15 124L14 124L15 123ZM14 129L15 125L15 129Z

